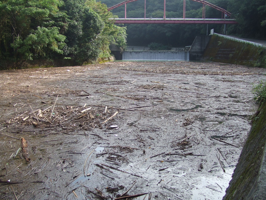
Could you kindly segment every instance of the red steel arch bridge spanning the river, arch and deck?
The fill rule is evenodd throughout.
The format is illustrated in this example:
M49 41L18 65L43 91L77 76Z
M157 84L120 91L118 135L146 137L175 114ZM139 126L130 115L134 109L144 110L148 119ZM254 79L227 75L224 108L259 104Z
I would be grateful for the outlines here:
M214 4L211 4L204 0L191 0L196 1L199 3L202 3L202 18L186 18L186 0L184 0L183 4L183 18L166 18L166 0L164 0L164 10L163 10L163 18L146 18L146 0L145 6L144 6L144 18L126 18L126 4L138 1L138 0L126 0L119 4L116 4L110 8L108 8L108 11L115 9L117 7L120 7L122 5L125 6L125 18L115 18L110 20L115 20L115 23L117 24L142 24L142 23L164 23L164 24L237 24L235 19L226 19L226 16L231 17L231 13L227 10L220 8L218 6L215 6ZM207 19L205 18L205 8L206 6L212 7L216 10L219 10L222 14L222 17L220 19Z

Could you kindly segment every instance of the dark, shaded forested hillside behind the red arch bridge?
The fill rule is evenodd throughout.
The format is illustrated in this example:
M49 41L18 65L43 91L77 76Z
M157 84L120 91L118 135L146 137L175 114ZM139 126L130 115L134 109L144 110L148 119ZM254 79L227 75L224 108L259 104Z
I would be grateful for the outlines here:
M111 7L121 0L102 0L102 3ZM163 0L146 0L146 18L163 18ZM266 1L252 0L208 0L218 7L232 13L239 25L226 25L228 35L237 35L246 38L266 39ZM127 18L144 18L144 0L127 4ZM124 18L124 6L112 10L114 15ZM221 12L206 7L206 18L221 18ZM166 0L166 18L183 17L183 0ZM202 4L186 1L186 18L202 18ZM195 24L125 24L127 26L128 45L147 46L150 43L159 43L172 47L191 45L195 36L206 35L207 25ZM214 28L215 33L223 34L224 25L208 25Z

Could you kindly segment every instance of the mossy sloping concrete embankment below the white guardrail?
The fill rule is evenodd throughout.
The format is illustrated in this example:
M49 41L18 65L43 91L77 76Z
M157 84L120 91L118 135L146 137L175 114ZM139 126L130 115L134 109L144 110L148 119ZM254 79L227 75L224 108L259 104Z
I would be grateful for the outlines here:
M265 48L254 47L213 35L203 53L204 60L254 66L265 56Z

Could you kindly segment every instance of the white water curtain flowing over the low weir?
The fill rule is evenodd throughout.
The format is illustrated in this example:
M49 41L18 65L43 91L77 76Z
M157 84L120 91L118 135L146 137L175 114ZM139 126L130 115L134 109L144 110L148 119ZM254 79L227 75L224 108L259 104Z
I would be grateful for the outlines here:
M124 51L122 60L189 60L189 51Z

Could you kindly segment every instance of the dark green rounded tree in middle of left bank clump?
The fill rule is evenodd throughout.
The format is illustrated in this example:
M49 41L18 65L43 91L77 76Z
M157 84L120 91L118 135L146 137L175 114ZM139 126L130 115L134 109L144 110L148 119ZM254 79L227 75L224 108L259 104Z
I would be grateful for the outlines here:
M69 16L65 33L65 54L80 64L87 60L95 60L100 53L99 36L104 28L100 16L85 6L83 0L65 1L64 10Z

